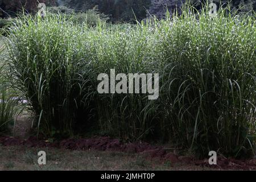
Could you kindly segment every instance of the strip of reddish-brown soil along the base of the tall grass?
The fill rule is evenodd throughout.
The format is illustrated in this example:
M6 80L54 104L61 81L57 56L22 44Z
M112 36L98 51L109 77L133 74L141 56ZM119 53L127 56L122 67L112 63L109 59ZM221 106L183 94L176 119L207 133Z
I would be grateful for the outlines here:
M118 151L130 154L144 154L147 158L156 158L162 162L195 164L201 167L213 169L235 169L235 170L256 170L256 159L237 160L218 157L217 165L210 165L208 159L197 160L188 156L177 156L161 146L152 146L149 143L122 143L118 139L109 137L94 137L88 139L64 139L59 142L48 142L39 140L36 137L21 139L18 137L0 137L0 144L3 146L27 146L27 147L55 147L68 150L99 150Z

